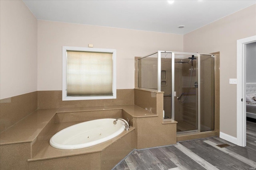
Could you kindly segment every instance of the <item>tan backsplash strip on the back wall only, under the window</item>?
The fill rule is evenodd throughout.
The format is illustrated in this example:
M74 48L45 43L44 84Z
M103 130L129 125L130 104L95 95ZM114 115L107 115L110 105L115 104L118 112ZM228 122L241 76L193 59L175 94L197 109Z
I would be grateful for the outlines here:
M117 89L116 99L62 101L62 91L38 91L38 109L134 104L134 89Z

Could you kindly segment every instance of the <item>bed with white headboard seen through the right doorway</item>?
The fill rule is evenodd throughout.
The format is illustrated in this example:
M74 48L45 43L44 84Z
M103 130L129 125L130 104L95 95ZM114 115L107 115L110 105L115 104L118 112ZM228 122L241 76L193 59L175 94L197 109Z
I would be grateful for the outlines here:
M256 83L246 83L246 117L256 119Z

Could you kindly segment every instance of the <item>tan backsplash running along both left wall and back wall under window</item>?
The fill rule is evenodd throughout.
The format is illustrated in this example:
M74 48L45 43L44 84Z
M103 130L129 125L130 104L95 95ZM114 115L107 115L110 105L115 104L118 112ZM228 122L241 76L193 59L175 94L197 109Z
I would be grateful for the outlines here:
M117 89L113 100L62 101L61 90L36 91L0 100L0 133L37 109L133 105L134 89Z

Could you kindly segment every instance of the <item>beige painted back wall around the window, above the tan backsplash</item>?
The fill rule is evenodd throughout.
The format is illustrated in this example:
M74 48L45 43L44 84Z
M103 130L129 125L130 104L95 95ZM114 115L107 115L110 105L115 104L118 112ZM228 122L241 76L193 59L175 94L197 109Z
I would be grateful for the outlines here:
M183 51L183 35L38 20L38 90L62 90L62 46L117 51L117 89L134 88L134 57Z

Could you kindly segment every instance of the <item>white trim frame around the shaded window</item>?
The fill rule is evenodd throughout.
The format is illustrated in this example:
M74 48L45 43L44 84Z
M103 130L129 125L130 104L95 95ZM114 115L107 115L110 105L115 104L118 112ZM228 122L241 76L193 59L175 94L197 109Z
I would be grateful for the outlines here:
M67 51L88 51L113 53L113 96L67 96ZM68 47L62 46L62 100L98 100L98 99L116 99L116 49L98 49L87 47Z

